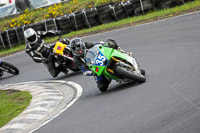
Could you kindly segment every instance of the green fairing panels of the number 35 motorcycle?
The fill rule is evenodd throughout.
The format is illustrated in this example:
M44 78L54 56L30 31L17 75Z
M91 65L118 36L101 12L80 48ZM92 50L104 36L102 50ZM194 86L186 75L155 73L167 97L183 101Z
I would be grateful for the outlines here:
M108 59L106 64L108 64L108 62L110 61L110 59L112 57L118 57L118 58L125 59L125 60L127 58L126 54L121 53L118 50L104 47L102 45L98 45L98 47L99 47L99 50L101 51L101 53ZM99 65L94 65L94 64L90 64L88 66L98 76L104 75L105 77L110 78L110 79L114 79L114 80L118 79L118 77L113 76L106 71L107 66L99 66ZM98 69L98 71L97 71L97 69Z

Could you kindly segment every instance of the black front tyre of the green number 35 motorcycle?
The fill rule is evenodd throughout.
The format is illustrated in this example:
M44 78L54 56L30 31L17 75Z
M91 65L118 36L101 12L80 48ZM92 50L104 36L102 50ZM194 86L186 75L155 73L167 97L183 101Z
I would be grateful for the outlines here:
M135 74L135 73L130 72L126 68L123 68L121 66L116 66L115 71L119 76L122 76L122 77L125 77L125 78L128 78L128 79L132 79L136 82L143 83L143 82L146 81L146 77L144 75Z

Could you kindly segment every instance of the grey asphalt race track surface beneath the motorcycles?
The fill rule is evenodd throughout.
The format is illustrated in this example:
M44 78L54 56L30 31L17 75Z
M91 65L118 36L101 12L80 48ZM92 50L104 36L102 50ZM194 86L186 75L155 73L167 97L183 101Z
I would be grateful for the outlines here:
M200 132L200 12L111 31L85 41L115 39L133 51L146 70L143 84L111 83L98 91L93 77L80 73L59 80L80 84L83 94L60 116L36 133L199 133ZM4 58L20 69L0 84L54 80L25 53Z

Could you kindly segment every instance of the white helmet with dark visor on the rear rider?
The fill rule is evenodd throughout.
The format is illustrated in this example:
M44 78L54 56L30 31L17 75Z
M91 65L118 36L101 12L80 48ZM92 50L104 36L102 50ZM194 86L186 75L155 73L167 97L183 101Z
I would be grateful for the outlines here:
M38 35L36 31L32 28L28 28L24 31L24 37L30 44L34 44L38 40Z

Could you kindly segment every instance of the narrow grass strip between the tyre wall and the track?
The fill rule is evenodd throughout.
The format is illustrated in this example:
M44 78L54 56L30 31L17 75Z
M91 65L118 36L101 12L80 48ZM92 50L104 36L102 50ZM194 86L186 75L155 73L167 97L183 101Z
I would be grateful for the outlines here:
M200 10L200 0L196 0L193 2L188 2L181 6L174 7L174 8L168 8L164 10L154 10L145 15L129 17L129 18L125 18L116 22L99 25L90 29L83 29L80 31L70 32L69 34L63 35L62 37L63 38L83 37L83 36L87 36L91 34L102 33L102 32L106 32L110 30L115 30L115 29L120 29L124 27L135 26L139 24L152 22L152 21L157 21L157 20L161 20L165 18L170 18L170 17L186 14L189 12L199 11L199 10ZM48 38L46 39L46 42L48 43L54 42L56 39L57 37ZM9 50L3 50L3 51L0 51L0 56L6 56L11 53L15 53L17 51L22 51L24 50L24 48L25 47L23 45L23 46L17 46L15 48L11 48Z

